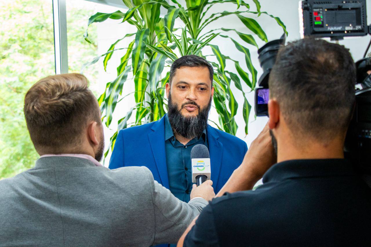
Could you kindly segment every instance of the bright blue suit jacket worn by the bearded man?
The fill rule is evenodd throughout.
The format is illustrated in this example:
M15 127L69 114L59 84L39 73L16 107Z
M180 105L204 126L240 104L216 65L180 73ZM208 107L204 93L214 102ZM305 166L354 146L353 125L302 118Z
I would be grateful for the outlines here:
M247 151L246 142L210 125L206 128L209 142L211 180L217 193ZM117 135L109 168L126 166L148 167L154 179L169 188L165 154L165 116L160 120L122 129Z

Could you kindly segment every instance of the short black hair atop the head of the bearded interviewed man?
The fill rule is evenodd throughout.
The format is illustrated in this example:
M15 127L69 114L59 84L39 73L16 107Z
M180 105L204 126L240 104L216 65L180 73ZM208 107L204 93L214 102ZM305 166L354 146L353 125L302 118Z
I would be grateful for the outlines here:
M182 66L188 66L188 67L207 67L209 69L210 73L210 80L211 85L213 85L213 78L214 78L214 68L211 66L209 62L207 62L206 59L203 57L199 57L196 55L185 55L173 62L173 64L170 67L170 77L169 77L169 83L173 80L173 77L175 75L175 71L179 69Z

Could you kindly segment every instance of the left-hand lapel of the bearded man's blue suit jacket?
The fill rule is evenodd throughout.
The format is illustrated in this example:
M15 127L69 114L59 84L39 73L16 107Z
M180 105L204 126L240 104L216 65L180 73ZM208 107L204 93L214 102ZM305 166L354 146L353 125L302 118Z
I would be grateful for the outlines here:
M153 158L155 159L162 186L170 188L165 153L165 116L153 124L151 132L148 134L148 139L150 140Z

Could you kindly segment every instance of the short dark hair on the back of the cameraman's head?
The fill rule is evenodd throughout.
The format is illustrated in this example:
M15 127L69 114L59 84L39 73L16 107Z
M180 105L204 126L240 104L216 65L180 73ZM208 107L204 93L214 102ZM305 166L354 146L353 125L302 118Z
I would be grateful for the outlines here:
M293 132L325 141L347 131L355 81L348 49L305 38L279 50L269 76L270 98L277 99Z

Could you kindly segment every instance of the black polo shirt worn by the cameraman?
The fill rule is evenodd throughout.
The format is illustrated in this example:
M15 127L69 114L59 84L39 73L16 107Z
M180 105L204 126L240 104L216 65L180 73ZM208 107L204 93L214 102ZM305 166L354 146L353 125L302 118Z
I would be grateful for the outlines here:
M280 162L213 199L184 246L371 246L371 189L345 159Z

